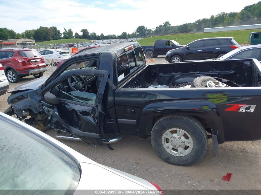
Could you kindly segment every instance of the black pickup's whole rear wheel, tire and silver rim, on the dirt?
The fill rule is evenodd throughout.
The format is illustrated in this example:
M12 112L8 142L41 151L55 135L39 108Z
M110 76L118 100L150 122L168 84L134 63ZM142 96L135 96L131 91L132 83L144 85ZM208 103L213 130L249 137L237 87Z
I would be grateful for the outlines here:
M164 116L151 132L151 144L158 156L172 165L189 166L203 158L207 133L194 117Z

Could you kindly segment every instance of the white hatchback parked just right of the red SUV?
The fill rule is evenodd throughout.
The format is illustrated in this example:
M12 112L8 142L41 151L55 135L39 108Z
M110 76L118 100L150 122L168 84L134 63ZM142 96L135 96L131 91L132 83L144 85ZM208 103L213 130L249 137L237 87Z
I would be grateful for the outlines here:
M47 49L39 51L39 53L44 57L44 63L49 64L53 59L53 66L56 66L57 62L62 59L68 59L71 57L69 51L61 50L61 49Z

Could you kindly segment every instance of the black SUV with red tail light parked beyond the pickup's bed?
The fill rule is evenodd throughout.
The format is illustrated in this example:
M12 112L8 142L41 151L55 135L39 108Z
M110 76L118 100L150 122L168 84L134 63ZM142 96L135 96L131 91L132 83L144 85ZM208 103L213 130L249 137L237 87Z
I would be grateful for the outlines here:
M240 47L240 45L233 37L198 39L184 47L168 51L165 55L165 59L169 63L177 63L219 58L238 47Z

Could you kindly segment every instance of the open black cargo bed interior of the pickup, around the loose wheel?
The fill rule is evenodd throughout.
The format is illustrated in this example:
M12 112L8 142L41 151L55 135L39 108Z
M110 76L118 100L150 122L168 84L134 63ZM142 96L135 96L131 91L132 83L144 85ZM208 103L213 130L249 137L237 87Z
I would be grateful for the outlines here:
M121 88L189 87L199 76L232 81L231 87L260 87L260 67L260 63L252 59L148 65Z

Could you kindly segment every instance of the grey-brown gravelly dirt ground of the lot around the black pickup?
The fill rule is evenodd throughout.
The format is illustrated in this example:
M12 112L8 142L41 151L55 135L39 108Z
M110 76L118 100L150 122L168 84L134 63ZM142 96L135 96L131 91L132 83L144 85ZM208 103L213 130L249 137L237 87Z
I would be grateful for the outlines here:
M156 63L166 63L164 57L156 58ZM55 70L48 70L50 75ZM10 89L35 79L22 78L19 83L10 83ZM0 96L0 111L8 104L9 94ZM46 134L54 137L55 130ZM153 151L150 140L140 140L134 136L124 136L112 144L113 151L106 146L88 146L82 142L61 140L88 158L115 169L136 175L160 185L162 189L261 189L261 141L226 142L219 145L218 156L212 155L212 140L208 140L208 150L204 158L190 167L180 167L165 163ZM221 177L232 173L230 182Z

